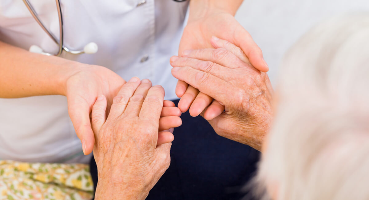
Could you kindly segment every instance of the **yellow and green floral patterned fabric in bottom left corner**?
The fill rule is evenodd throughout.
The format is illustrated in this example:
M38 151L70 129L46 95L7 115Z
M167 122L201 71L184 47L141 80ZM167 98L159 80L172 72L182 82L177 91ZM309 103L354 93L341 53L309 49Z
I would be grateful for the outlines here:
M93 182L85 164L0 161L0 200L90 200Z

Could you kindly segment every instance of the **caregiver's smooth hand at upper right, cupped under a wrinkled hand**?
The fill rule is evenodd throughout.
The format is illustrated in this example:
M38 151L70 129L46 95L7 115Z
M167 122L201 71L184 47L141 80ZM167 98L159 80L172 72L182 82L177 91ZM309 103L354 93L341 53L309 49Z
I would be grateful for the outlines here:
M268 65L263 59L262 51L251 35L235 20L232 14L219 9L212 9L204 16L189 19L183 31L178 55L183 56L183 54L188 53L185 50L189 49L212 48L210 38L213 35L241 47L256 69L262 72L268 71ZM182 80L177 83L176 95L181 98L178 103L179 109L182 112L189 109L192 116L199 115L209 105L213 115L219 115L224 111L224 107L219 106L220 104L216 100L213 101L213 98L199 92Z

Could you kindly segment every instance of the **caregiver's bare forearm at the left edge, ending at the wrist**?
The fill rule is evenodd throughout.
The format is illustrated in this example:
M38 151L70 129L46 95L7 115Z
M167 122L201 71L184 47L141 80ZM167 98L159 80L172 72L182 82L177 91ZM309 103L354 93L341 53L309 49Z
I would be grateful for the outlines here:
M0 98L65 95L65 82L78 72L75 61L31 53L0 41Z

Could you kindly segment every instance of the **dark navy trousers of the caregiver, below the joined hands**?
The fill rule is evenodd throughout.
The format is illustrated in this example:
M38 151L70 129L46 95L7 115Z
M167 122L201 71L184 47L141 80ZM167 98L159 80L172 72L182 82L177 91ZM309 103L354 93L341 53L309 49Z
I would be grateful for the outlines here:
M182 126L173 133L170 166L147 200L242 199L246 194L241 189L255 175L259 152L218 136L200 116L191 117L186 112L181 118ZM90 166L96 187L94 158Z

